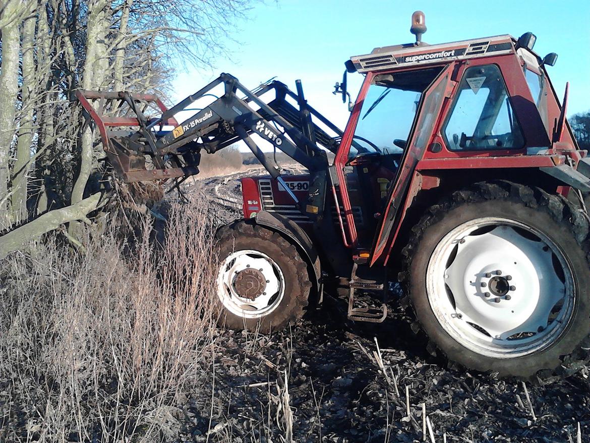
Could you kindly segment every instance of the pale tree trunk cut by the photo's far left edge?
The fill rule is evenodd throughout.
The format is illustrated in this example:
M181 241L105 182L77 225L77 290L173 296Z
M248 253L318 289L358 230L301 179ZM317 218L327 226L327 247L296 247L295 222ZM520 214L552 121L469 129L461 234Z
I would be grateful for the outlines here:
M12 139L15 133L15 105L18 93L18 50L20 34L18 14L20 2L0 2L4 9L0 21L7 22L2 28L2 70L0 71L0 202L8 195L8 161ZM5 204L0 204L0 226L8 223Z

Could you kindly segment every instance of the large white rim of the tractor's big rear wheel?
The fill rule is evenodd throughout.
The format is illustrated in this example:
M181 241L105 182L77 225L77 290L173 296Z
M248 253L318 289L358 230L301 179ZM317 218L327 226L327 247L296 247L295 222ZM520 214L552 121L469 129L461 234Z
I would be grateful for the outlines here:
M427 295L435 317L458 343L485 356L512 358L550 346L568 327L572 275L565 254L545 234L484 217L456 227L435 247Z

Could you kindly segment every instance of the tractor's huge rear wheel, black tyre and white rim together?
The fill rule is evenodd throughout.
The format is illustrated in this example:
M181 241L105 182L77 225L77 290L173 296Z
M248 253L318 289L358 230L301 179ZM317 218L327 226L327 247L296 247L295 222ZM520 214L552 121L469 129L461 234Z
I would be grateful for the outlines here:
M588 220L540 188L499 181L431 207L404 249L409 298L449 360L565 375L590 333Z

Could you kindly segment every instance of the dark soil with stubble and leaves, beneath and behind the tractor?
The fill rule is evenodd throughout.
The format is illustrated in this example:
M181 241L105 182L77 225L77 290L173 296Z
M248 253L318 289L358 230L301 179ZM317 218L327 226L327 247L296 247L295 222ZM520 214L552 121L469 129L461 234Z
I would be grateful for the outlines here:
M208 178L188 191L205 193L231 220L240 217L237 179L257 172ZM546 385L449 369L427 353L395 301L389 310L383 324L354 323L327 297L288 331L219 330L211 396L187 403L187 438L284 441L291 413L294 441L422 441L424 403L426 441L590 442L588 366Z

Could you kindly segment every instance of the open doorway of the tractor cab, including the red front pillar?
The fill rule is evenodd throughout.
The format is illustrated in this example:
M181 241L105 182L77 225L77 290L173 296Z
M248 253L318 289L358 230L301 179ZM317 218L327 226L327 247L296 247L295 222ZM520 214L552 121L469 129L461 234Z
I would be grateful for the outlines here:
M444 68L367 74L330 170L337 205L336 190L342 201L339 221L346 246L365 253L372 249L422 97Z

